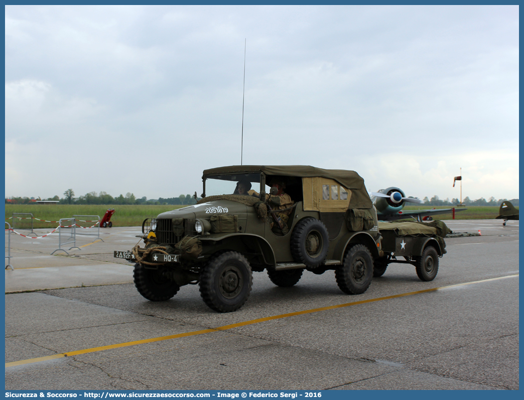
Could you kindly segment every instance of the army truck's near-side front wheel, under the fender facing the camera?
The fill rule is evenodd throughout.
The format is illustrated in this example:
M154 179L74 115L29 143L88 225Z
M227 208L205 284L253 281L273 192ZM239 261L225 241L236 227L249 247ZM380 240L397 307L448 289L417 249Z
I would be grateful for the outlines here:
M242 307L251 292L253 276L247 259L236 251L211 258L200 275L200 295L209 308L230 313Z

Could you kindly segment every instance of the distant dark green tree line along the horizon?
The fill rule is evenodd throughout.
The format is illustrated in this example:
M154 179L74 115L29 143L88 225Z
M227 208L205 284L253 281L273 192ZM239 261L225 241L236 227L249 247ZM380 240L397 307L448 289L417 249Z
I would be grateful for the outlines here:
M200 200L200 197L195 199L193 196L186 194L181 194L178 197L168 197L163 198L159 197L157 199L148 199L146 196L137 198L133 193L126 193L126 195L119 195L118 197L113 197L110 194L107 194L106 192L90 192L86 193L84 195L81 195L79 197L74 197L74 191L72 189L68 189L63 193L64 197L60 198L58 196L49 197L46 200L50 201L56 201L59 202L59 204L104 204L104 205L119 205L119 204L127 204L127 205L192 205L196 204L197 200ZM460 203L460 200L458 198L450 199L446 198L445 200L441 200L439 196L433 196L431 198L424 197L424 204L428 206L456 206ZM489 197L488 200L486 200L484 197L478 198L476 200L471 200L469 197L465 197L462 200L462 203L466 206L500 206L502 202L507 201L507 198L500 198L495 199L495 197ZM31 204L35 203L34 197L9 197L5 199L6 204ZM518 198L512 198L509 200L511 204L518 207L519 206L519 199Z

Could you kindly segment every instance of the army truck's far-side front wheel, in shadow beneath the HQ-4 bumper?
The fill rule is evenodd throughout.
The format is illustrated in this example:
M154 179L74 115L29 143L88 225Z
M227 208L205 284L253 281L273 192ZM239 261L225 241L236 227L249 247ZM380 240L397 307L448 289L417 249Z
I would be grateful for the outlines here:
M180 286L166 277L164 271L162 266L151 270L142 264L135 264L133 280L138 293L152 302L163 302L176 295Z

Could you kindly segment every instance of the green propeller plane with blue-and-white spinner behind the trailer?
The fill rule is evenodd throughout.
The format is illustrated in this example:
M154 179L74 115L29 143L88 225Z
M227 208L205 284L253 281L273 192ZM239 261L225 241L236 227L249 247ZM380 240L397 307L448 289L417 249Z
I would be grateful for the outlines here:
M432 215L449 214L453 208L439 208L426 210L409 210L402 211L406 203L422 204L424 201L418 198L406 197L398 187L388 187L371 194L373 204L377 209L378 220L394 221L397 219L413 218L418 221L432 220ZM455 212L465 210L466 208L457 208Z

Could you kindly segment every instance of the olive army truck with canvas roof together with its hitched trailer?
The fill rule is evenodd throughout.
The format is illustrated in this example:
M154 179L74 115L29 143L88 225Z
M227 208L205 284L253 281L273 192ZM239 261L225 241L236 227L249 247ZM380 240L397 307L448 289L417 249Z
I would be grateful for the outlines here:
M304 271L332 270L342 292L362 294L392 262L412 263L420 279L430 281L445 253L435 228L384 226L383 233L388 223L379 226L364 180L354 171L224 166L205 170L202 180L195 205L144 221L143 248L114 252L136 263L136 288L150 301L199 284L206 305L232 312L247 301L253 271L267 271L271 282L286 287ZM290 204L280 205L282 194L270 189L271 182L280 183ZM240 183L250 195L239 194Z

